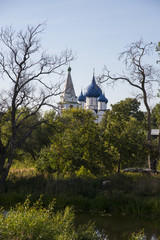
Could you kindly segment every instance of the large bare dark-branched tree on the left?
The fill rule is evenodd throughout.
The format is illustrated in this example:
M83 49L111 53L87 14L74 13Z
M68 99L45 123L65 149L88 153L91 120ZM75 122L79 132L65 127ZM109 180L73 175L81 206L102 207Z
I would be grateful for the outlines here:
M8 88L0 93L0 187L8 176L15 150L42 122L33 121L23 134L21 126L43 106L53 106L52 97L61 92L61 84L48 76L61 75L62 66L73 59L71 51L54 56L43 51L39 35L44 28L45 24L39 24L18 33L12 28L0 31L3 47L0 73L8 84Z

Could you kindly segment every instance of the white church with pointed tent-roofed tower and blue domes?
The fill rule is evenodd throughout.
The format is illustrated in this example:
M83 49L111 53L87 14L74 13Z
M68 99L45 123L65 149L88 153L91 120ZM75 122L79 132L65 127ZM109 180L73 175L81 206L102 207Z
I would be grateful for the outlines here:
M60 112L63 109L79 108L91 109L97 116L97 122L102 120L104 112L107 110L108 99L102 93L101 88L96 84L93 74L91 84L86 88L84 93L81 90L77 98L71 77L71 68L68 68L68 75L65 82L63 94L58 103Z

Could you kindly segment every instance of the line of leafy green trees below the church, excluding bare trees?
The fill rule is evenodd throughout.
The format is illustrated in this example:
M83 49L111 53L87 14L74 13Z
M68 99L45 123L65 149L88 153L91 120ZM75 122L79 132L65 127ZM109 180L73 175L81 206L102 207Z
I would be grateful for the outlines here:
M153 128L159 125L159 108L157 104L152 112ZM56 178L94 177L126 167L146 167L148 152L158 167L158 139L148 145L146 114L136 99L127 98L112 105L100 124L92 111L83 109L66 110L61 115L54 111L34 115L21 128L21 138L33 121L43 124L17 149L15 159L32 162L39 171ZM1 129L10 132L8 123Z

